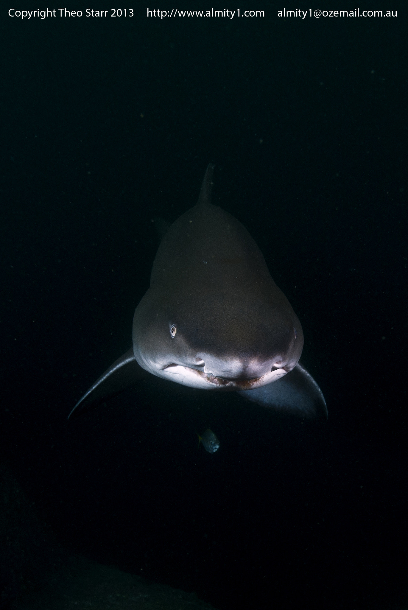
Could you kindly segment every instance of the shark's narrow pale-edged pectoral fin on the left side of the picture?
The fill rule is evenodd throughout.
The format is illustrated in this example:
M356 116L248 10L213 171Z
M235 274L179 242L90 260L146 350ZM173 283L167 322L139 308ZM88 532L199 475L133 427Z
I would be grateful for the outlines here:
M82 415L98 406L102 401L120 393L126 387L147 375L146 371L137 364L132 348L123 356L113 362L99 379L95 381L88 392L76 403L68 419Z

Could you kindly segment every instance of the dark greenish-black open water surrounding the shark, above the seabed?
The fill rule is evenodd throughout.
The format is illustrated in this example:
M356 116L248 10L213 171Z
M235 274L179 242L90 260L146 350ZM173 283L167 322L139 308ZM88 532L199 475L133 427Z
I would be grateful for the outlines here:
M272 4L3 13L0 456L63 547L216 608L403 608L406 14ZM213 202L301 320L328 422L151 377L68 423L131 345L151 219L191 207L210 161Z

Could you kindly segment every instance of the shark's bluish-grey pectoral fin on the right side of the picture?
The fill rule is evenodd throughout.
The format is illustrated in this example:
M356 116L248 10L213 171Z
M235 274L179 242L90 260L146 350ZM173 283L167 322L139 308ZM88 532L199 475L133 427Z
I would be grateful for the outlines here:
M254 390L243 390L238 394L282 413L293 413L308 419L327 419L323 393L312 375L299 362L281 379Z

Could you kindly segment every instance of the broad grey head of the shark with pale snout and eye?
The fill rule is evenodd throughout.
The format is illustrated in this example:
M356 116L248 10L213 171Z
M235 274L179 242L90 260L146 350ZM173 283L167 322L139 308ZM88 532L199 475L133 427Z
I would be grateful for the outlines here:
M273 303L242 296L213 293L177 304L169 299L160 309L154 291L146 294L134 316L138 364L204 389L252 389L281 378L302 351L299 320Z

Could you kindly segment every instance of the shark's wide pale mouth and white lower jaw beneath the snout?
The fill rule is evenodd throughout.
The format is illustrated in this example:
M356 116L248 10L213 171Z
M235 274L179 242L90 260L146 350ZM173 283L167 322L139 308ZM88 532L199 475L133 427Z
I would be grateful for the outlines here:
M252 390L256 387L266 386L277 379L280 379L288 372L285 368L273 368L266 375L252 379L226 379L217 377L212 373L197 370L196 368L185 367L180 364L169 364L160 371L161 377L171 379L176 383L185 386L197 387L206 390ZM157 373L156 373L157 374Z

